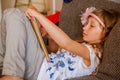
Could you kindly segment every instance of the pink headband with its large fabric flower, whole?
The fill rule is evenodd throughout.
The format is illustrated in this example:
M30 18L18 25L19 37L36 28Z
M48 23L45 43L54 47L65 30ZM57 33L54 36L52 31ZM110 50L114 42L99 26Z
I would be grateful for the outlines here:
M87 8L85 13L82 14L81 16L81 23L84 25L87 22L87 19L89 16L94 17L103 27L105 27L105 24L100 20L100 18L98 16L96 16L94 13L92 13L93 11L95 11L96 8L95 7L90 7Z

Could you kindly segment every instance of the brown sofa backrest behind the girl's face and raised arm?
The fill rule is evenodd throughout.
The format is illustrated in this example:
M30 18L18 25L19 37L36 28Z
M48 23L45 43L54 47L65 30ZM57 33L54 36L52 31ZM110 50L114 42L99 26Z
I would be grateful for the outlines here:
M70 3L63 4L59 22L60 28L73 39L81 37L82 25L79 15L91 6L115 9L120 12L120 4L114 3L113 0L72 0Z

